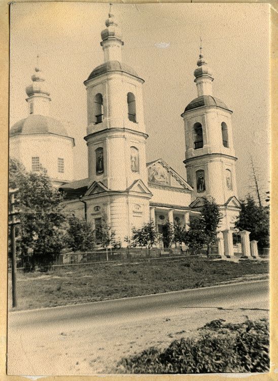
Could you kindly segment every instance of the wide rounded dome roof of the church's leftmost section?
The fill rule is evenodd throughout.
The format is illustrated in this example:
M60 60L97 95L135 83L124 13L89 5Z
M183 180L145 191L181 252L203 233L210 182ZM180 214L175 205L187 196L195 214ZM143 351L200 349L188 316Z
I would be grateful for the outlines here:
M46 133L68 137L68 133L61 122L44 115L29 115L27 118L16 122L10 129L10 137Z

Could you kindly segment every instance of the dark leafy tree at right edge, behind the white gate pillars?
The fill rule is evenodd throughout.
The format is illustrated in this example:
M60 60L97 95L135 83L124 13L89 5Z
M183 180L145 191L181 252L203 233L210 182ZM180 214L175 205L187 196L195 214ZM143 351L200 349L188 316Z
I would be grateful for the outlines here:
M240 202L240 212L235 223L239 230L251 232L250 240L258 241L259 247L269 246L269 207L259 206L252 196Z

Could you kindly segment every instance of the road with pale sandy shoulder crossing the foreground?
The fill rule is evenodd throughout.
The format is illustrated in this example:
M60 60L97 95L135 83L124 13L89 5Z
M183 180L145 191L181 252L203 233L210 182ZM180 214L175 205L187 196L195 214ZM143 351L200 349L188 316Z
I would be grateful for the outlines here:
M211 320L267 316L268 300L268 280L257 280L9 312L8 374L103 373L122 356L195 334Z

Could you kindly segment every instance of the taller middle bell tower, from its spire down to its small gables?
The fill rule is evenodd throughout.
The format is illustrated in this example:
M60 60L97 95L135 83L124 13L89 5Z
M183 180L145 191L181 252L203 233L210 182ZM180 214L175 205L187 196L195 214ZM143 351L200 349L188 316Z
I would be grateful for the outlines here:
M101 39L104 63L84 82L88 177L124 191L138 179L147 184L144 80L122 62L124 43L111 5Z

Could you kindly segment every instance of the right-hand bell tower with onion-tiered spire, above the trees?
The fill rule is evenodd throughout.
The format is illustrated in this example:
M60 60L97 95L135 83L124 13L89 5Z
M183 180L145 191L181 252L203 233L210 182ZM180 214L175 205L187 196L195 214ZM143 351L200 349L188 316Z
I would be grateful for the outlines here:
M213 96L213 74L201 51L194 76L198 97L186 106L182 114L187 180L194 189L195 199L215 199L225 216L223 224L229 229L232 215L238 213L239 206L232 111Z

